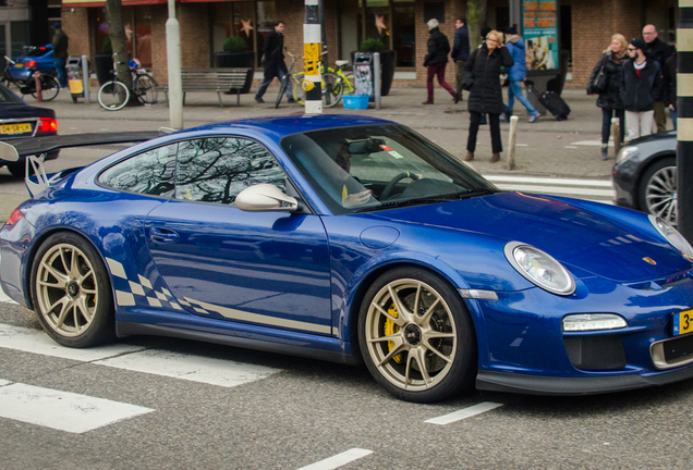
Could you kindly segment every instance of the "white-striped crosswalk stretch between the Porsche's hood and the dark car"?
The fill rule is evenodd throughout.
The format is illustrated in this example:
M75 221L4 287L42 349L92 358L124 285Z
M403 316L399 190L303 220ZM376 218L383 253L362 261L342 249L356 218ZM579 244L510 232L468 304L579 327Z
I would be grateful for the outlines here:
M609 180L551 178L535 176L484 175L499 189L574 197L613 203L613 186Z

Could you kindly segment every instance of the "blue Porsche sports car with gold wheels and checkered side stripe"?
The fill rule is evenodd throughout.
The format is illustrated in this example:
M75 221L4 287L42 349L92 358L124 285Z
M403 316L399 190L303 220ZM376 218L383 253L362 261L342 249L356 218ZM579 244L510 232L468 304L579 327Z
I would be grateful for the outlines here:
M0 231L0 275L65 346L363 360L413 401L693 376L693 249L674 228L500 191L397 123L227 122L38 180Z

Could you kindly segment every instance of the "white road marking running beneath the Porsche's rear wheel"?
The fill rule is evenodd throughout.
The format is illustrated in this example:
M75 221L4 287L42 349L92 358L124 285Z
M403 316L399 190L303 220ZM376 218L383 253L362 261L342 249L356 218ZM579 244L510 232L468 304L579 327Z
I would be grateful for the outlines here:
M206 358L132 345L72 349L60 346L40 330L0 323L0 348L90 362L135 372L233 387L265 379L280 369Z

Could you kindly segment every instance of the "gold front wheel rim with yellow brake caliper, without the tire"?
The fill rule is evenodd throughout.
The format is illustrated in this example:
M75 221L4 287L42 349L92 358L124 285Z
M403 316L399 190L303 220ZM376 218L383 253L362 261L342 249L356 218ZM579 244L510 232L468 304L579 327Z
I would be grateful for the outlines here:
M378 372L409 392L425 391L445 380L454 363L455 331L443 297L413 279L385 285L372 300L365 324L368 354Z

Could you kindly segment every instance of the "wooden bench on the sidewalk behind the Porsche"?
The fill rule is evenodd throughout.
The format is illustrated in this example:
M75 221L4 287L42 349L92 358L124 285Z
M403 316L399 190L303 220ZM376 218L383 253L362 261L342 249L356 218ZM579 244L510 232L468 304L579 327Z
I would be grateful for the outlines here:
M219 107L223 108L221 94L235 94L236 106L241 104L241 94L250 92L250 84L253 81L252 69L182 69L181 82L183 84L183 106L185 94L195 91L217 91ZM166 102L169 102L169 87L165 85Z

